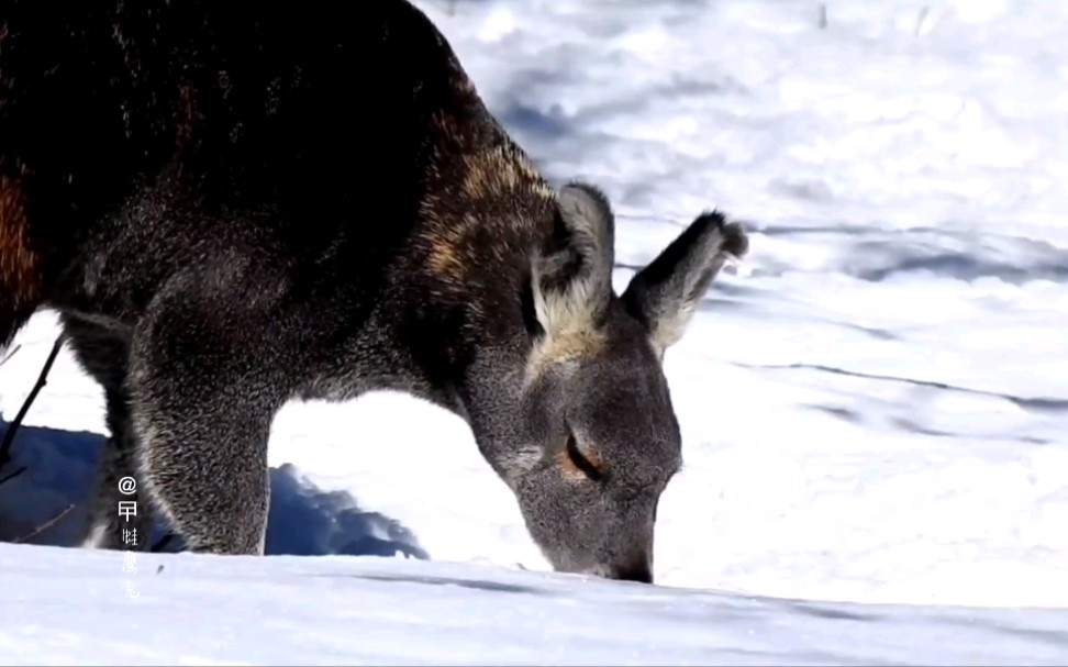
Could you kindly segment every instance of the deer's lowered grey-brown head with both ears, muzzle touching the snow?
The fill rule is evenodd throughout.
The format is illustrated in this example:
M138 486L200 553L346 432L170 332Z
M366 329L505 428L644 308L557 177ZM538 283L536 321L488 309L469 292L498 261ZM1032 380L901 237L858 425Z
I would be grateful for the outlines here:
M616 294L604 197L565 187L556 229L524 298L520 408L493 430L510 442L480 445L556 570L652 582L657 503L682 462L664 353L747 237L707 212Z

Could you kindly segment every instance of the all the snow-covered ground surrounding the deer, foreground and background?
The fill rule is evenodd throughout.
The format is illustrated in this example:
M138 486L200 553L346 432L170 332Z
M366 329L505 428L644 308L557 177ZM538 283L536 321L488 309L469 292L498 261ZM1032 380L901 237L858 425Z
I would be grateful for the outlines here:
M140 555L133 599L121 554L0 545L0 664L1068 660L1068 4L418 4L608 191L621 287L702 208L752 221L666 360L665 586L518 571L547 566L452 415L293 403L268 551L338 556ZM5 420L55 335L0 367ZM0 540L73 503L29 541L68 545L104 425L66 352L25 424Z

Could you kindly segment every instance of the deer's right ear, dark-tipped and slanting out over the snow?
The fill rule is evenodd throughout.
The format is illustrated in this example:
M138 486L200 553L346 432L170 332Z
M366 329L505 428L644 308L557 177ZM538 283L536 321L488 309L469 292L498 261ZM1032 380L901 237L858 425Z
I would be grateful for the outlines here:
M742 258L748 247L739 223L726 222L719 211L705 212L631 278L623 304L645 325L660 358L682 337L723 265L731 256Z

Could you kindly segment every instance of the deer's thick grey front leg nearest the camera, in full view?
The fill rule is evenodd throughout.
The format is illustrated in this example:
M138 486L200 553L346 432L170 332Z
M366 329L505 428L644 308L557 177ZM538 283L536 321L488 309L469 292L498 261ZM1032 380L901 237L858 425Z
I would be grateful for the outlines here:
M190 551L264 553L267 442L283 397L268 336L269 319L192 288L157 299L134 336L143 476Z

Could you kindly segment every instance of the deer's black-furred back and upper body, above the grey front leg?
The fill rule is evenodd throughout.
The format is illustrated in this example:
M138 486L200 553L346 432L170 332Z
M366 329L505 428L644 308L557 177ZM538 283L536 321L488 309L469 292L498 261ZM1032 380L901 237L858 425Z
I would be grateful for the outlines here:
M226 247L371 281L418 223L434 119L490 126L405 0L5 8L0 345L43 301L121 320Z

